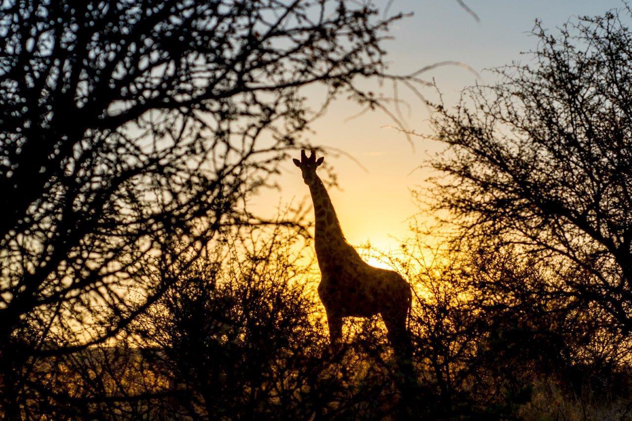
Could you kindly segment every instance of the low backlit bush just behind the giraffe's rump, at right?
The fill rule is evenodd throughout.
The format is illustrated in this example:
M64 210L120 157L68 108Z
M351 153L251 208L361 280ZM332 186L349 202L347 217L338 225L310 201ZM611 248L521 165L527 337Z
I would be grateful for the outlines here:
M534 393L552 396L547 384L573 408L623 413L632 402L630 342L609 315L559 294L564 273L547 273L513 247L479 246L430 249L419 235L385 256L416 292L410 328L425 398L416 410L514 417Z

